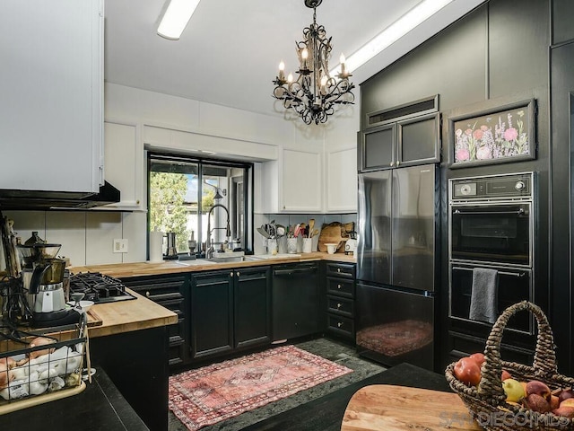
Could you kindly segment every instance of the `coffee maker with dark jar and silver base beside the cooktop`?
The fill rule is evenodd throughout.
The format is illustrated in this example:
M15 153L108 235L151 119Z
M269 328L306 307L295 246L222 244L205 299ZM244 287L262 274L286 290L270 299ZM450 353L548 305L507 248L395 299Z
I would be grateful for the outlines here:
M22 286L36 328L76 323L79 313L65 308L65 260L57 259L60 244L37 242L16 246L22 257Z

